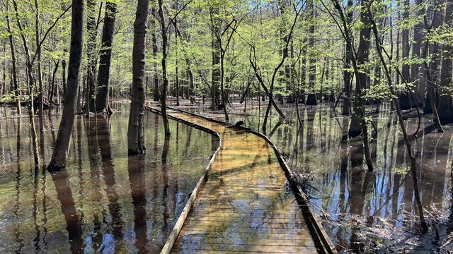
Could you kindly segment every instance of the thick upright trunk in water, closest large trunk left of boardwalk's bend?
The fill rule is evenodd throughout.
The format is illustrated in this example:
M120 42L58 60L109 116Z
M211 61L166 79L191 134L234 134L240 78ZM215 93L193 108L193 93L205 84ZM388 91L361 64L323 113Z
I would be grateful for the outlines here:
M134 47L132 49L132 92L127 128L129 155L139 155L144 147L144 68L145 39L148 28L149 0L139 0L134 22Z

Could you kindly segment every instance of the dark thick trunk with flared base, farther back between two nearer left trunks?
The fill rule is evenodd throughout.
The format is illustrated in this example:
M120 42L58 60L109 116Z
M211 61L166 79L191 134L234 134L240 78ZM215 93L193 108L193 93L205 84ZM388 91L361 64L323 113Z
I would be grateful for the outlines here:
M102 28L101 56L99 57L99 71L96 94L96 111L105 111L112 114L108 105L108 90L110 87L110 66L112 65L112 45L115 34L115 16L117 4L107 1L105 4L104 26Z

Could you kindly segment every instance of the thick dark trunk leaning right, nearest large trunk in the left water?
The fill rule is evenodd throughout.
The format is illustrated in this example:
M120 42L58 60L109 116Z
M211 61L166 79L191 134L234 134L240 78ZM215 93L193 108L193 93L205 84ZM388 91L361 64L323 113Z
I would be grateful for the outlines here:
M64 169L67 164L69 141L71 140L74 116L76 115L76 95L79 88L79 71L84 35L84 0L72 0L71 20L71 49L69 51L69 71L64 97L63 117L59 124L52 159L49 166L47 166L49 171Z

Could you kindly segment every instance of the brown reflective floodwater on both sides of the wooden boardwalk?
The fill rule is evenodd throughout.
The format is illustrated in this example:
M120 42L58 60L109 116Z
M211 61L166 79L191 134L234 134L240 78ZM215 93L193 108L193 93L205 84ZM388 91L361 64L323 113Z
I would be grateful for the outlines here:
M153 103L153 102L149 102ZM170 105L175 105L171 102ZM396 114L383 104L369 118L374 171L367 170L362 140L341 142L350 117L329 104L281 105L286 118L271 112L261 129L267 102L232 103L230 122L243 121L279 147L341 253L448 253L453 249L453 126L432 131L423 116L412 138L418 188L430 224L420 234L406 146ZM224 120L223 110L202 102L178 107ZM147 153L127 156L129 104L113 103L110 117L76 116L66 170L50 174L35 167L28 117L0 107L0 250L4 253L159 253L218 140L170 121L164 137L161 116L145 113ZM52 154L61 109L45 116L40 147ZM408 133L418 127L415 111L405 111ZM39 128L39 127L38 127ZM44 163L44 164L45 164Z

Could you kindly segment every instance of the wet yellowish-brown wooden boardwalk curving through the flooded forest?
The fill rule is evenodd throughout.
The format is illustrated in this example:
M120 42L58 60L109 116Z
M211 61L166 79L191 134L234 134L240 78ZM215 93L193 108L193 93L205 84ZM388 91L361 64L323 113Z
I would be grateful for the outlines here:
M163 253L335 253L309 230L265 139L201 117L170 113L215 131L222 142L195 190L187 218L180 219L176 242L168 242Z

